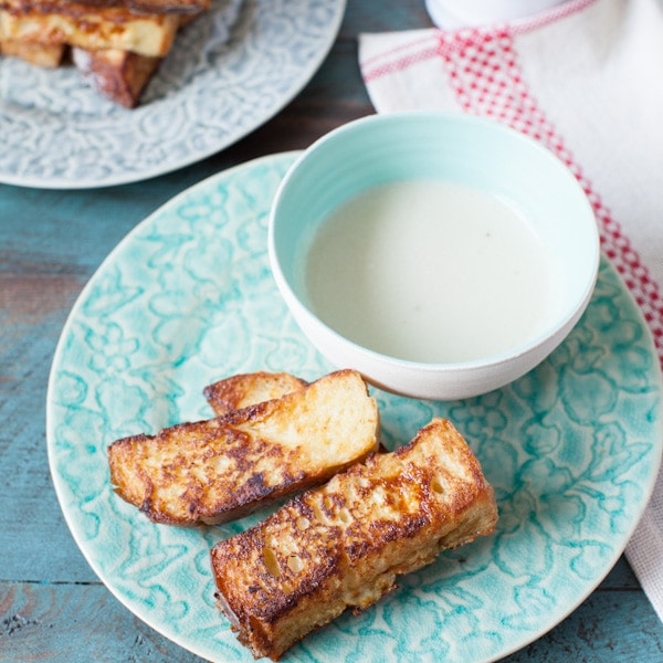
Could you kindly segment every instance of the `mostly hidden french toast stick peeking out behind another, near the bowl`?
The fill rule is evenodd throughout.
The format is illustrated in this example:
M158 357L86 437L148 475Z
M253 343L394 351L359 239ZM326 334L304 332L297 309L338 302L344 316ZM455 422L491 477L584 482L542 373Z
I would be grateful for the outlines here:
M281 398L306 387L307 382L288 372L255 371L238 373L208 385L204 398L219 417L255 403Z

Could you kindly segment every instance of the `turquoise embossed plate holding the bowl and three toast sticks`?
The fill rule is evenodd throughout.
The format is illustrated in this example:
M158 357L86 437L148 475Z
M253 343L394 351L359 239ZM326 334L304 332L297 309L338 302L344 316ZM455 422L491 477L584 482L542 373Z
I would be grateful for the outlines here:
M251 161L140 223L81 294L48 393L51 472L71 532L138 618L211 661L252 661L214 607L209 550L256 522L154 525L110 490L117 438L211 415L202 388L231 373L333 369L276 292L267 213L294 154ZM492 661L571 612L622 552L662 450L662 385L649 332L603 261L592 302L533 372L481 398L424 402L375 391L388 446L453 420L495 487L494 536L443 554L359 615L291 650L296 661Z

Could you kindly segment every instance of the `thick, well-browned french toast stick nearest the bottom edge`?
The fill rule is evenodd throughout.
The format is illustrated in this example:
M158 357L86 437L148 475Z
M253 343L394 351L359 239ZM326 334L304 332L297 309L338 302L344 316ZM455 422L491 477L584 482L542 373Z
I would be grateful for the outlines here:
M217 544L219 608L255 657L278 660L346 609L367 608L441 550L491 534L497 507L453 425L371 454L254 527Z

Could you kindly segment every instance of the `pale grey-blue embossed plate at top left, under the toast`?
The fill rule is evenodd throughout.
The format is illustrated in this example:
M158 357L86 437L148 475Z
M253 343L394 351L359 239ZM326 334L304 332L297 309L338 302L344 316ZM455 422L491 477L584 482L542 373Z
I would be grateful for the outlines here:
M102 98L72 66L0 57L0 181L77 189L147 179L248 135L311 80L345 0L217 0L178 34L143 104Z

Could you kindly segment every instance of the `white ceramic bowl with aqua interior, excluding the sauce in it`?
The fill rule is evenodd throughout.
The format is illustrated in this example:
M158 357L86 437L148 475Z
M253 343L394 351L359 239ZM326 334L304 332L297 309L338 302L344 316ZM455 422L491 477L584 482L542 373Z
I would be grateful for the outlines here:
M537 329L513 347L462 360L402 359L377 351L369 343L350 340L338 332L334 319L327 316L323 322L312 311L307 255L329 214L386 182L422 179L457 183L506 201L540 238L545 257L555 270L556 304L546 309ZM587 197L551 152L495 122L429 112L365 117L333 130L306 149L276 192L269 252L274 278L290 311L333 365L359 370L369 382L388 391L431 400L491 391L543 361L587 307L600 259L596 220ZM504 297L509 294L504 293ZM352 297L352 292L344 296ZM483 332L493 334L494 329L488 325Z

